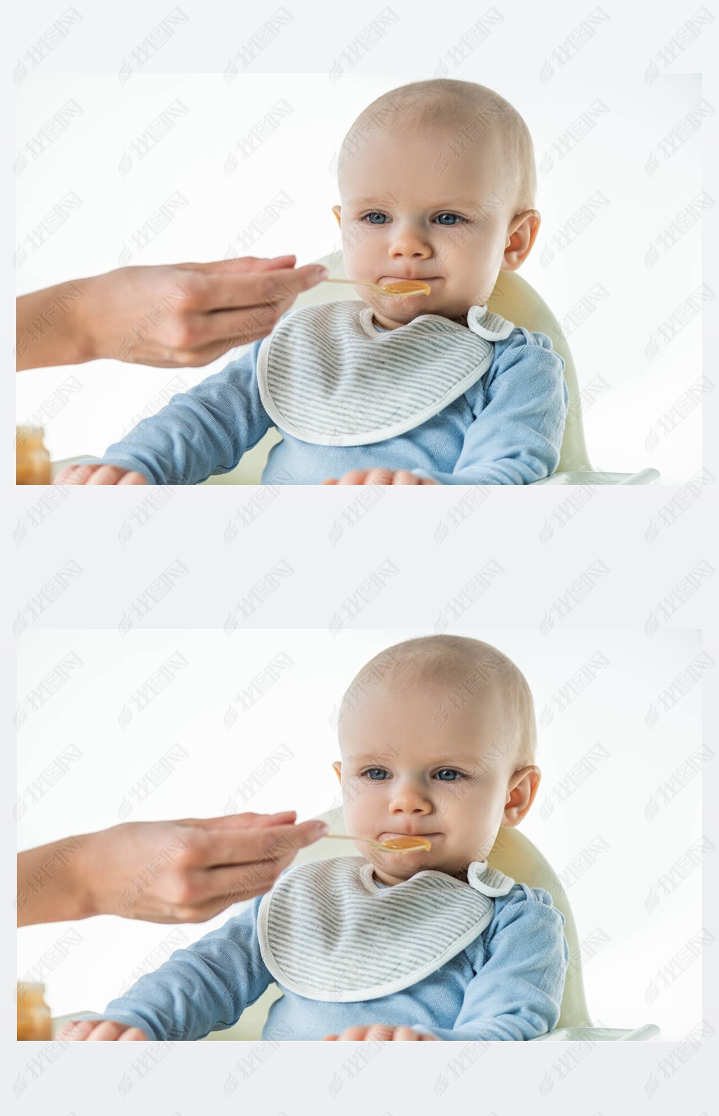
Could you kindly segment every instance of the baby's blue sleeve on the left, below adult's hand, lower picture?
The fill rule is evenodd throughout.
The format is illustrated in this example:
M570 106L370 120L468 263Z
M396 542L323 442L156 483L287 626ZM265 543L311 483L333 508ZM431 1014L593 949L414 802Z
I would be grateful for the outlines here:
M258 941L263 897L258 895L220 930L176 950L156 972L111 1000L99 1018L139 1027L150 1039L174 1041L232 1027L274 980Z

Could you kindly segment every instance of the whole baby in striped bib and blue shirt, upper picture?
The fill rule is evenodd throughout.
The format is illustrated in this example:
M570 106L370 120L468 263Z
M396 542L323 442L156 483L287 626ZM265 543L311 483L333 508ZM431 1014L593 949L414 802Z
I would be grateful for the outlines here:
M472 81L400 86L351 126L338 184L359 301L288 311L60 483L197 484L234 469L271 426L282 441L263 483L529 484L554 472L564 360L545 334L487 309L499 271L516 271L540 228L519 114ZM397 279L430 292L359 285Z

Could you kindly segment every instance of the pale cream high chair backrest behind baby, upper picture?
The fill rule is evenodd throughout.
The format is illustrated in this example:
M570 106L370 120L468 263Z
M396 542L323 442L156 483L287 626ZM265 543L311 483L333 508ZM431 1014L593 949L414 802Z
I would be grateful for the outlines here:
M329 268L331 276L337 276L339 279L346 278L341 252L332 252L317 262ZM318 302L339 302L340 299L357 299L357 292L349 285L338 283L333 286L321 282L317 287L312 287L311 290L299 295L293 306L315 306ZM564 358L564 378L570 393L570 408L564 425L557 472L575 470L592 472L584 443L576 368L566 337L555 316L526 279L522 279L515 271L499 272L487 306L495 314L501 314L507 321L513 321L515 326L522 326L529 333L546 334L552 340L554 350Z

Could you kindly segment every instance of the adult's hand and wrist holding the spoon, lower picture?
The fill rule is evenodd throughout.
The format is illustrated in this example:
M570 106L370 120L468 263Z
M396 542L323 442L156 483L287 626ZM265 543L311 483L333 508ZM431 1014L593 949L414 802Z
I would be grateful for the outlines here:
M18 856L18 925L115 914L206 922L269 892L321 821L294 810L182 821L126 821Z

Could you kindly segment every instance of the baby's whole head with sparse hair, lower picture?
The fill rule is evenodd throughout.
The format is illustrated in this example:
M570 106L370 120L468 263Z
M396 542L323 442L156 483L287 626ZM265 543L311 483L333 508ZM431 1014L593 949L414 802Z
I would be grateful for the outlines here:
M499 827L524 818L541 778L526 679L464 636L408 639L370 660L342 699L339 742L347 831L431 843L409 854L358 843L386 884L426 868L466 878Z

